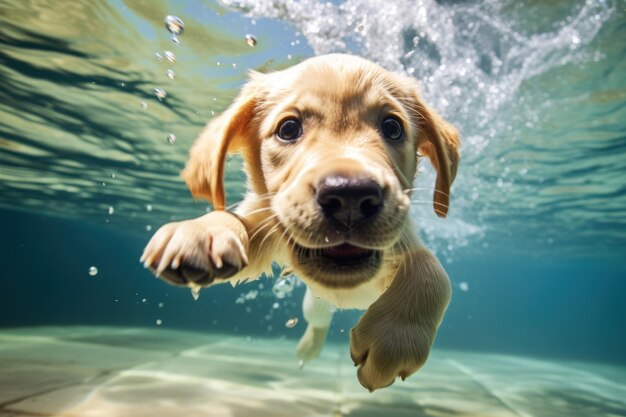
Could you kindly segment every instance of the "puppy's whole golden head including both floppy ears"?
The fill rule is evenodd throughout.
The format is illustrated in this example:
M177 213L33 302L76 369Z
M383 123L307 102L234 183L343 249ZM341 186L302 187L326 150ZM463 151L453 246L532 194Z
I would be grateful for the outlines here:
M293 265L323 285L350 287L373 277L402 236L418 153L437 170L434 209L445 217L458 145L414 80L326 55L253 73L200 135L182 175L194 195L223 209L224 160L241 151Z

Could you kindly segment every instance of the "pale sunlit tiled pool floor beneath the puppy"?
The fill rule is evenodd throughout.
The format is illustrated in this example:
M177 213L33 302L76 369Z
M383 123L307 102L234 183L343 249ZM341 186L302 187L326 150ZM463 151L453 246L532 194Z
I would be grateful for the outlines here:
M0 416L626 416L626 369L435 351L368 393L347 346L298 369L295 342L163 328L0 330Z

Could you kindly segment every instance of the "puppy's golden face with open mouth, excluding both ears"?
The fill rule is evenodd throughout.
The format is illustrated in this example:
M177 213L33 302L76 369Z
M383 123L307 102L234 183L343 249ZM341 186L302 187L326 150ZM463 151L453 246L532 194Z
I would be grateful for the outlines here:
M283 78L263 104L263 173L293 264L327 286L363 282L399 239L416 127L395 77L357 61Z

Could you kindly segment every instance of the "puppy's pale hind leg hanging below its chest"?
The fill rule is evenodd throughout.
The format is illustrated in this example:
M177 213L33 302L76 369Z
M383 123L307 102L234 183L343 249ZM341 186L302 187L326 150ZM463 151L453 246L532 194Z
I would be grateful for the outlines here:
M332 304L315 297L307 287L302 301L302 313L307 321L307 327L296 348L301 364L319 356L328 335L334 310Z

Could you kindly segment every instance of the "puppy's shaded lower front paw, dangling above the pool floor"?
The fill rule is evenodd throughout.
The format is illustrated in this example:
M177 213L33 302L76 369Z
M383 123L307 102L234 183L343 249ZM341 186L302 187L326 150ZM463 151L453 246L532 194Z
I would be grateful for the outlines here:
M436 331L372 305L350 333L350 355L359 366L361 385L371 392L416 372L428 358Z

